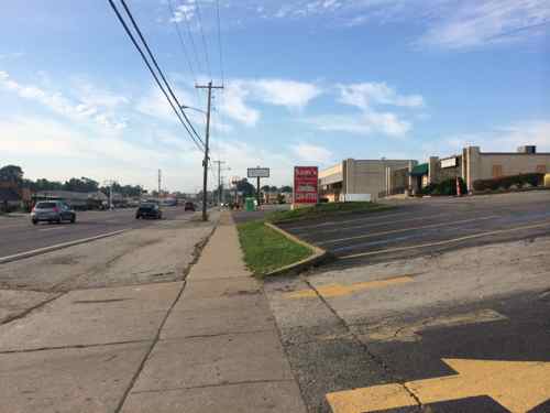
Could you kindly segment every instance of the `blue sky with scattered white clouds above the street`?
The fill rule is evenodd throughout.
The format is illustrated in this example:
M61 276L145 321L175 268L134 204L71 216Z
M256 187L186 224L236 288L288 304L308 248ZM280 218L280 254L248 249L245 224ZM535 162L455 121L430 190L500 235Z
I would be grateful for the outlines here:
M127 4L183 105L206 109L195 84L223 84L211 160L226 180L260 165L285 185L295 165L465 145L550 152L549 0ZM108 0L2 6L0 165L147 188L161 169L164 188L196 192L202 153L170 110Z

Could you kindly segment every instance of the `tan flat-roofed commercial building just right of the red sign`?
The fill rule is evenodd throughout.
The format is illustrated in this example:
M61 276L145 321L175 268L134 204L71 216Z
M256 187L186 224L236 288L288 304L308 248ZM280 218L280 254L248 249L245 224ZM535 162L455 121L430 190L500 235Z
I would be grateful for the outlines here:
M319 172L319 195L329 202L376 200L387 194L388 187L394 186L388 183L389 171L410 171L417 163L414 160L348 159ZM410 187L409 181L407 176L405 182L399 183L404 191Z

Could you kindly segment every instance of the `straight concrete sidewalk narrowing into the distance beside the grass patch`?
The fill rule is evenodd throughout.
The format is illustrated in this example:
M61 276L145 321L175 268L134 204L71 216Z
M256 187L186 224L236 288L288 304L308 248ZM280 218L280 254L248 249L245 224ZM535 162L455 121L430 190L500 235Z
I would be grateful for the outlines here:
M123 412L302 413L267 300L224 214Z

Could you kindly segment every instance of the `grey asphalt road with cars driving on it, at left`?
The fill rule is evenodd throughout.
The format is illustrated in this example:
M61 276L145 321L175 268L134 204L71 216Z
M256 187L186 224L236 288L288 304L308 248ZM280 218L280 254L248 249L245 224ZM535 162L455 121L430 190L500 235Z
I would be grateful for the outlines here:
M163 219L190 216L183 207L163 208ZM96 237L124 229L141 228L154 220L135 219L135 209L77 213L75 224L47 224L33 226L29 217L0 218L0 259L63 242Z

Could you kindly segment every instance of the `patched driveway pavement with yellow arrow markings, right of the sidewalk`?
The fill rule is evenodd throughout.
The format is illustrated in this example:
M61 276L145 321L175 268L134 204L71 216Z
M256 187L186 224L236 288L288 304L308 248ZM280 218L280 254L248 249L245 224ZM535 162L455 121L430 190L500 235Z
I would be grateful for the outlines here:
M549 412L550 238L265 284L310 412Z

